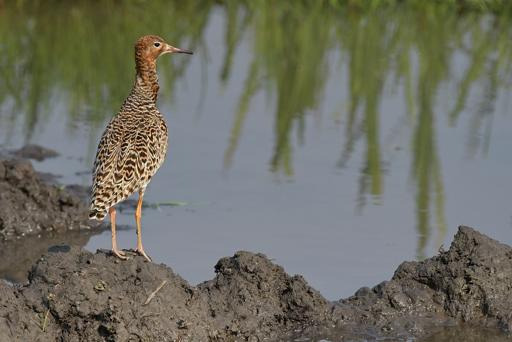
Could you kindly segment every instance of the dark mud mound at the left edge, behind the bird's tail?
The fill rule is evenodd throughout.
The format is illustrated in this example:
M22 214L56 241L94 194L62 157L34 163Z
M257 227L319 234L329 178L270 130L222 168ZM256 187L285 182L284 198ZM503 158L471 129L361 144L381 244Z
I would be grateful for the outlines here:
M41 184L24 158L0 158L0 238L98 226L67 191Z

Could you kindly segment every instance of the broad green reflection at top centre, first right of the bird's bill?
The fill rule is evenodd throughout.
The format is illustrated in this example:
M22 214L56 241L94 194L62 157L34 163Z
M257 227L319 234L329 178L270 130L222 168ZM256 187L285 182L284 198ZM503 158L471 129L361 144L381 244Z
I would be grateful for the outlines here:
M226 21L228 31L233 30L236 26L233 22L238 20L229 15L233 11L229 10L230 6ZM229 168L232 164L249 100L265 85L269 94L275 94L277 105L270 170L292 176L293 149L289 135L296 127L299 143L304 143L305 114L317 109L327 79L325 55L332 44L329 31L333 15L313 2L294 2L293 5L283 2L282 6L276 6L274 2L266 1L242 10L249 12L247 17L251 20L244 20L241 25L253 25L253 60L234 119L224 166ZM234 29L235 32L245 30L245 27ZM233 53L230 47L235 45L230 37L228 35L223 76L229 74Z

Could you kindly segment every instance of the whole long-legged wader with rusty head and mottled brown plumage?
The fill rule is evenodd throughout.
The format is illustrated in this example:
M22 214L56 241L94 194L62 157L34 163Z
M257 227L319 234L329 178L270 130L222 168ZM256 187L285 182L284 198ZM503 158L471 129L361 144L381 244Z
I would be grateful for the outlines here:
M138 234L135 251L151 261L142 249L140 216L146 186L162 165L167 152L167 125L155 107L160 89L155 62L168 52L192 54L167 45L154 35L143 36L135 43L135 84L119 112L106 126L94 162L89 218L101 220L110 213L112 252L123 259L126 258L125 253L116 246L114 205L139 191L135 212Z

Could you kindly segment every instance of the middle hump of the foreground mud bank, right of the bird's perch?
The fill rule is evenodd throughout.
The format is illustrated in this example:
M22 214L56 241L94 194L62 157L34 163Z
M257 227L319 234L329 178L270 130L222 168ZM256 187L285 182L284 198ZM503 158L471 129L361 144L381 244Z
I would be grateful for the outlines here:
M223 336L277 340L284 332L331 327L328 301L263 254L237 252L220 259L215 272L198 290Z

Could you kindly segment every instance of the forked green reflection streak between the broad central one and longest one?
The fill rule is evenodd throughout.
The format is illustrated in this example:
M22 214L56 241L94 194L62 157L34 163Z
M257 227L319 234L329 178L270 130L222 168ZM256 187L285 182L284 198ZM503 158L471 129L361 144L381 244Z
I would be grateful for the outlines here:
M382 44L388 21L385 17L364 15L349 17L348 27L338 29L342 46L350 55L350 105L345 127L345 146L337 166L343 168L356 141L366 137L366 158L359 178L357 211L362 212L366 194L382 194L382 169L379 146L378 105L386 71L389 69L389 47ZM358 118L358 108L364 107ZM361 111L362 112L362 111Z

